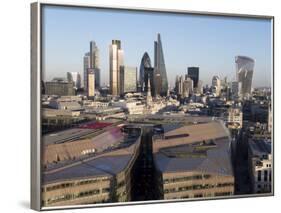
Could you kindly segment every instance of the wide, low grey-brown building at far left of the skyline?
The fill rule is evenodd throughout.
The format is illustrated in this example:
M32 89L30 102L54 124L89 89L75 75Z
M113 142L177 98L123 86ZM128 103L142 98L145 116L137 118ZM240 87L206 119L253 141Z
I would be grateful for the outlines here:
M74 83L68 82L62 78L54 78L45 83L46 95L75 95Z

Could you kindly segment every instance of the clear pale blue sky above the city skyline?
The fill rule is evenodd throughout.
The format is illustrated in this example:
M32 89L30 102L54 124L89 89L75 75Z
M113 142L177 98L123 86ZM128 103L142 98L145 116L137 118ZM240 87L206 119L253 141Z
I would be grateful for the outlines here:
M43 15L43 72L45 80L79 72L89 42L100 50L101 83L109 82L109 45L121 40L124 62L140 66L145 51L154 64L154 41L161 34L168 81L199 66L204 84L214 75L235 77L235 56L256 60L253 86L270 86L270 20L215 17L143 11L45 6Z

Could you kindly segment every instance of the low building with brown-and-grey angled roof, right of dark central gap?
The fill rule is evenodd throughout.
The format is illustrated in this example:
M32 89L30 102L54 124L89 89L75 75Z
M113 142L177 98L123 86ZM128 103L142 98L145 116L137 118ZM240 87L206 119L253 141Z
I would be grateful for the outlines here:
M153 141L157 185L162 199L234 194L230 137L213 121L166 131Z

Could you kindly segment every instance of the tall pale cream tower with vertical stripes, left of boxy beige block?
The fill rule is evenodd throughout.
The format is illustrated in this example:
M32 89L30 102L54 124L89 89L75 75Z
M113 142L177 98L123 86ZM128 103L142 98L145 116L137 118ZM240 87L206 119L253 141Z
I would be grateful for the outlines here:
M120 95L120 66L123 66L124 52L120 40L112 40L109 46L109 85L110 93Z

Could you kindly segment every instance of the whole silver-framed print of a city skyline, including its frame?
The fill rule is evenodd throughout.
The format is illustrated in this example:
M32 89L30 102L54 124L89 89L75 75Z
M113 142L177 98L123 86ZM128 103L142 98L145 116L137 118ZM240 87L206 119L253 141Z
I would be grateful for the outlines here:
M274 17L31 4L31 207L274 194Z

